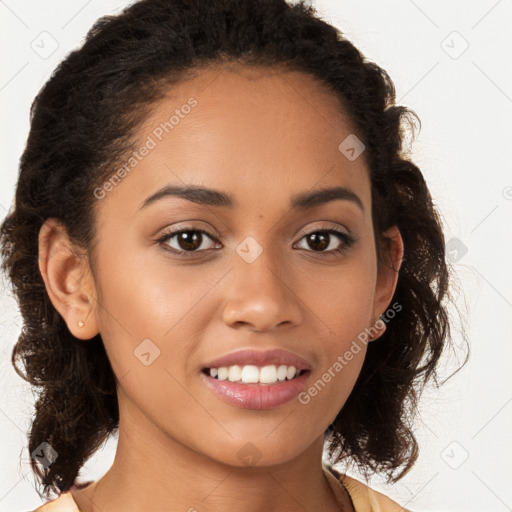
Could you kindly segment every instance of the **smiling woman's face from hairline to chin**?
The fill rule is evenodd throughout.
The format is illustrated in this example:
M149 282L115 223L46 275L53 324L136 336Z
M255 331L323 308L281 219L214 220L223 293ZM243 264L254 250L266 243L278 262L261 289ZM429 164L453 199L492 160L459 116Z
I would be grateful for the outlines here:
M364 153L339 149L353 133L299 72L209 69L154 106L134 160L97 189L89 319L121 416L231 465L278 464L323 438L366 345L339 357L395 284L379 279Z

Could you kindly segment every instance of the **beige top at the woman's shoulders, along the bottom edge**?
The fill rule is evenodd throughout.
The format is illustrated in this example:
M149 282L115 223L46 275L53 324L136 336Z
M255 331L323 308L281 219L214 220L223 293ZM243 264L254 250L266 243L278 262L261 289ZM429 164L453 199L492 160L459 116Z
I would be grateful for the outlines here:
M356 512L410 512L355 478L339 474L327 465L323 466L323 470L340 507L346 489ZM343 509L340 508L340 510ZM80 510L71 493L66 492L33 512L80 512Z

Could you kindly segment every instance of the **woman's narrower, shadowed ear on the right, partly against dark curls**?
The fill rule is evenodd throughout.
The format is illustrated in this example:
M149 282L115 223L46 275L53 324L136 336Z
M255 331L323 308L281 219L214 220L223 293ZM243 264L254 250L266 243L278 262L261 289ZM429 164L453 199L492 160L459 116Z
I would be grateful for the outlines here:
M398 227L389 228L384 232L384 236L389 239L389 247L383 248L382 258L384 261L378 262L373 304L375 320L379 319L391 303L398 282L398 271L404 257L404 243Z

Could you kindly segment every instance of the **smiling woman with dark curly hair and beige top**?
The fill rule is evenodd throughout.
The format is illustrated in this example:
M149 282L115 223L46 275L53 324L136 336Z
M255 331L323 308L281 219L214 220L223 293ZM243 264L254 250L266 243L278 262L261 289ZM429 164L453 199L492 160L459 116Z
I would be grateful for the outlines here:
M449 335L394 99L304 2L142 0L61 63L1 230L38 510L405 510L333 467L412 467Z

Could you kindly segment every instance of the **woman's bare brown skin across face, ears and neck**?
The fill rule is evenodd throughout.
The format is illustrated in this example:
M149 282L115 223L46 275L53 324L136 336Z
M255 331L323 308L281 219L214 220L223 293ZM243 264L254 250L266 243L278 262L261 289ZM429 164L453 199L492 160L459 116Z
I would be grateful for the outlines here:
M83 512L339 510L321 469L323 433L352 390L364 345L307 405L237 408L214 395L200 372L237 349L284 348L310 362L315 382L390 305L400 234L388 232L395 270L378 266L364 153L349 161L339 151L354 129L314 77L203 70L156 105L136 147L191 96L198 104L190 114L98 200L94 266L71 250L59 223L48 220L40 232L52 303L77 338L101 333L118 380L114 463L73 496ZM218 189L238 205L167 197L140 209L169 184ZM348 200L290 209L291 196L331 186L357 194L364 211ZM220 237L203 237L185 258L165 249L183 250L178 237L156 241L178 225ZM335 235L324 252L308 244L308 232L333 226L356 243L342 254L326 252L343 247ZM263 251L252 263L236 252L248 236ZM160 349L149 366L134 357L147 338ZM255 465L238 456L249 442Z

